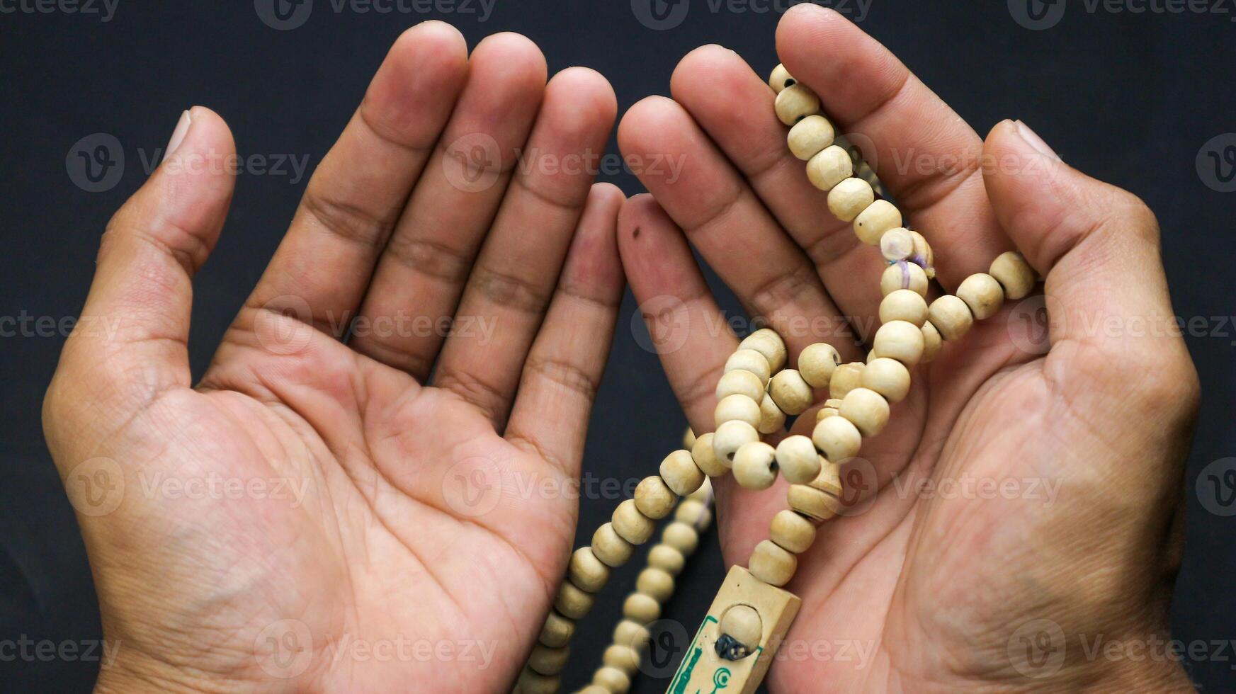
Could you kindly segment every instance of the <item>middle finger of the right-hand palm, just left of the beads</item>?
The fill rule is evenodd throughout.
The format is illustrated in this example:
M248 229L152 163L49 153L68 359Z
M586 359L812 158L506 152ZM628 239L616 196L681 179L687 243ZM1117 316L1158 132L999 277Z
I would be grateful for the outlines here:
M807 180L803 162L790 153L768 83L738 53L703 46L682 58L670 89L803 249L842 314L874 316L880 293L871 288L881 263L849 224L828 212L828 193ZM853 325L861 332L863 321Z

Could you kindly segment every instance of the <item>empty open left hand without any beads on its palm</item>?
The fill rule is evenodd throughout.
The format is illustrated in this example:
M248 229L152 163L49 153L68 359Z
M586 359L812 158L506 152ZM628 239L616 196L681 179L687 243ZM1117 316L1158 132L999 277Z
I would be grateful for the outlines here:
M105 236L84 315L119 330L70 338L44 408L120 647L100 688L509 685L623 286L620 193L514 151L586 157L614 110L590 70L546 85L522 37L468 57L410 30L195 389L190 277L234 147L188 114Z

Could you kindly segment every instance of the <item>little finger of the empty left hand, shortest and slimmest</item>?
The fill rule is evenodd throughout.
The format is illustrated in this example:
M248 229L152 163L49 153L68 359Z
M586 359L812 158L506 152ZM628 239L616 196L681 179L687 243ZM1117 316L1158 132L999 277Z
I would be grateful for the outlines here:
M625 196L592 186L545 325L524 363L507 438L578 474L588 414L613 341L623 274L614 225Z

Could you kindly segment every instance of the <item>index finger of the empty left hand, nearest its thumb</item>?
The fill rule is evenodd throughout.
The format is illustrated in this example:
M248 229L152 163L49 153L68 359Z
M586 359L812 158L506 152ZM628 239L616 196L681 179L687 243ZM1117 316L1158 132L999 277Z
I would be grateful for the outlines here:
M450 25L424 22L396 41L234 328L251 331L263 306L294 296L310 314L302 319L342 336L466 77L467 46Z

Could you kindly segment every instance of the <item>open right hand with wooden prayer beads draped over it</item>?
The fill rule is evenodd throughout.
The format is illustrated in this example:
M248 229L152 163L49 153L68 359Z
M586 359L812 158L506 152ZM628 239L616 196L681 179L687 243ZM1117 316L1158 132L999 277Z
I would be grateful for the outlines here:
M1164 322L1153 216L1069 169L1022 123L984 142L834 12L790 10L777 48L839 131L870 143L864 154L932 241L943 288L1016 248L1044 274L1046 299L1012 303L946 343L863 459L843 464L847 509L798 558L787 588L803 605L772 688L1188 688L1170 661L1086 651L1096 638L1168 637L1198 384ZM671 89L674 101L637 104L619 127L625 154L685 162L674 179L641 177L655 200L628 203L619 248L671 383L696 431L711 431L713 385L737 340L687 241L785 336L791 367L819 341L861 358L850 326L870 337L883 264L828 214L786 151L772 90L738 56L701 48ZM1041 327L1023 320L1044 306L1046 354ZM810 435L815 412L792 431ZM785 504L780 485L719 484L727 559L745 564Z

